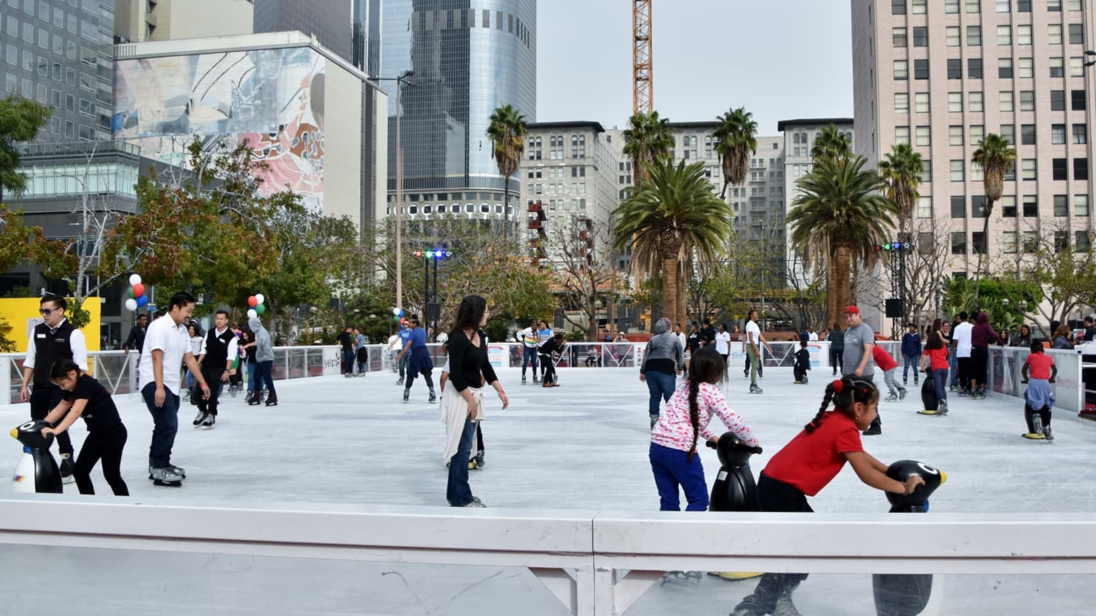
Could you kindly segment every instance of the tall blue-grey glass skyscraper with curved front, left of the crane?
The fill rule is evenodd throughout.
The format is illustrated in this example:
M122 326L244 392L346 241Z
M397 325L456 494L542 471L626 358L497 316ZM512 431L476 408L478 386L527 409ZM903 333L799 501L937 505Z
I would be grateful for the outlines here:
M520 219L521 185L499 174L488 118L513 105L536 122L536 0L392 0L384 4L383 77L400 83L407 214ZM395 81L389 207L396 204ZM505 189L509 187L509 207ZM456 212L455 212L456 210Z

